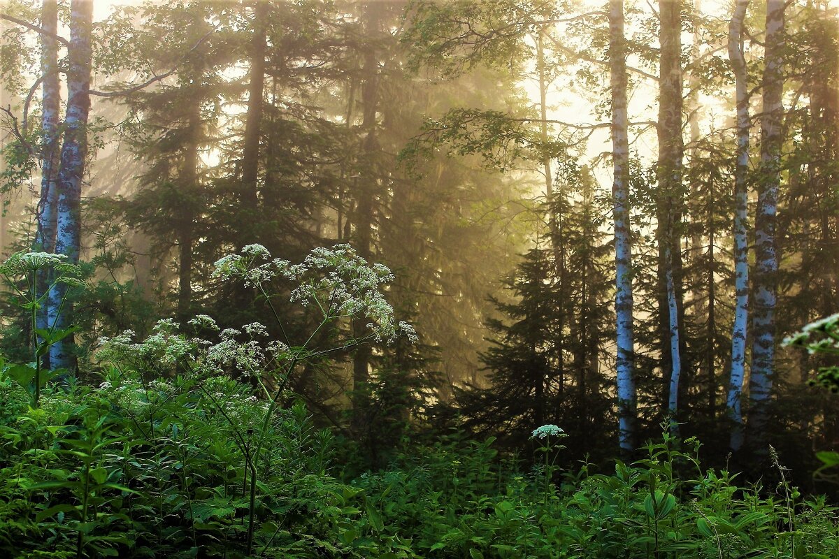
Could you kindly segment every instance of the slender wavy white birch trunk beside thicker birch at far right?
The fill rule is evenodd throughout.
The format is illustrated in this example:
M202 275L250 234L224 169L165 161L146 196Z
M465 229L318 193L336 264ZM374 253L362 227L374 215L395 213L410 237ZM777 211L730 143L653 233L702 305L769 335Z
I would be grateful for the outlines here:
M743 447L743 410L741 395L746 372L746 329L748 324L748 71L743 56L743 21L749 0L737 0L728 25L728 59L734 70L737 88L737 167L734 175L734 271L736 301L732 326L732 365L726 398L726 413L731 420L729 446Z

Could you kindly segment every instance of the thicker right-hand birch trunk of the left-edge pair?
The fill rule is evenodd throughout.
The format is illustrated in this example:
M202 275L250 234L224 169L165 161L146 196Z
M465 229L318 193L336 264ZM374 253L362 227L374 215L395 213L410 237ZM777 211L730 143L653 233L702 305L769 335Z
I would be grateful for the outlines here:
M70 47L67 49L70 71L67 74L67 112L64 119L64 144L61 147L58 173L58 210L56 217L55 253L64 254L72 263L79 261L81 250L81 180L87 156L87 117L91 108L91 0L70 3ZM72 304L65 303L67 285L58 283L50 290L50 328L70 326ZM74 357L70 337L50 348L50 366L68 369Z

